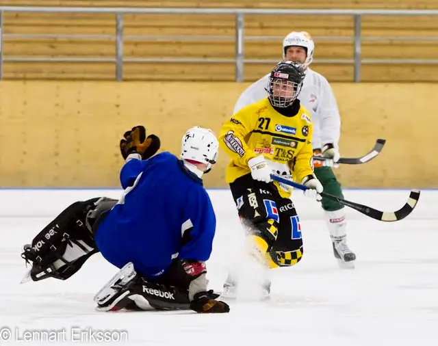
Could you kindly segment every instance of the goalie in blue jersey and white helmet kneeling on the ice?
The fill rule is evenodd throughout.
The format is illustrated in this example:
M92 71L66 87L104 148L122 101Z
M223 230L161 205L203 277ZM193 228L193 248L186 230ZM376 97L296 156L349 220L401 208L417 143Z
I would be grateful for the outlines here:
M194 127L182 138L179 158L155 155L159 145L144 127L125 133L122 196L76 202L58 215L25 245L22 256L32 262L27 280L66 280L101 252L120 271L95 295L98 310L229 312L207 290L205 265L216 216L202 177L216 163L218 140Z

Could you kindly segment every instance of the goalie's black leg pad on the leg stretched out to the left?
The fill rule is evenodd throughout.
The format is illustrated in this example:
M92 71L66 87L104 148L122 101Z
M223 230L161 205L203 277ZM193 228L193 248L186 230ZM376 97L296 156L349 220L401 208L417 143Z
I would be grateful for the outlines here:
M57 278L75 274L90 256L99 252L93 230L116 200L92 198L71 204L23 248L22 258L32 267L26 280ZM24 280L24 279L23 279Z

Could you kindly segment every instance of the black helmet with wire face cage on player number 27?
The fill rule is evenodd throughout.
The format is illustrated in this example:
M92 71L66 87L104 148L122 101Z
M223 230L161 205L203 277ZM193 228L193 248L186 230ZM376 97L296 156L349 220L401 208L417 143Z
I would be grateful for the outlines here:
M294 103L306 77L305 68L298 62L279 62L271 71L268 98L272 106L285 108Z

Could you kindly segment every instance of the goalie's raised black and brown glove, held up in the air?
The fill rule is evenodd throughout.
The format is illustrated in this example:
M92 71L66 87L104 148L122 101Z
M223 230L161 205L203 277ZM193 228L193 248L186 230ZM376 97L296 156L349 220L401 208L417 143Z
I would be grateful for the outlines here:
M144 160L149 159L161 146L159 137L156 135L149 135L146 138L146 129L141 125L126 131L123 137L120 140L120 152L125 160L133 152L142 155Z

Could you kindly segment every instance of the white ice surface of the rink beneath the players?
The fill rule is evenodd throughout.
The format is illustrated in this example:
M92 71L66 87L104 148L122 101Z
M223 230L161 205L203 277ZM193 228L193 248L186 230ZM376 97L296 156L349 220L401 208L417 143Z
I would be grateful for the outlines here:
M229 191L209 192L218 230L207 266L211 288L221 289L242 231ZM127 342L105 345L438 345L438 191L422 191L417 209L400 222L349 209L354 270L339 269L322 210L297 192L302 261L272 271L270 301L230 302L229 314L96 312L92 297L116 272L100 254L69 280L20 284L27 271L23 244L71 202L103 195L118 198L120 191L0 190L0 345L55 344L36 342L38 333L34 342L19 339L27 330L62 328L57 344L84 345L85 337L73 339L73 327L127 331ZM387 211L408 196L408 190L345 191L348 200ZM8 343L2 327L12 330Z

